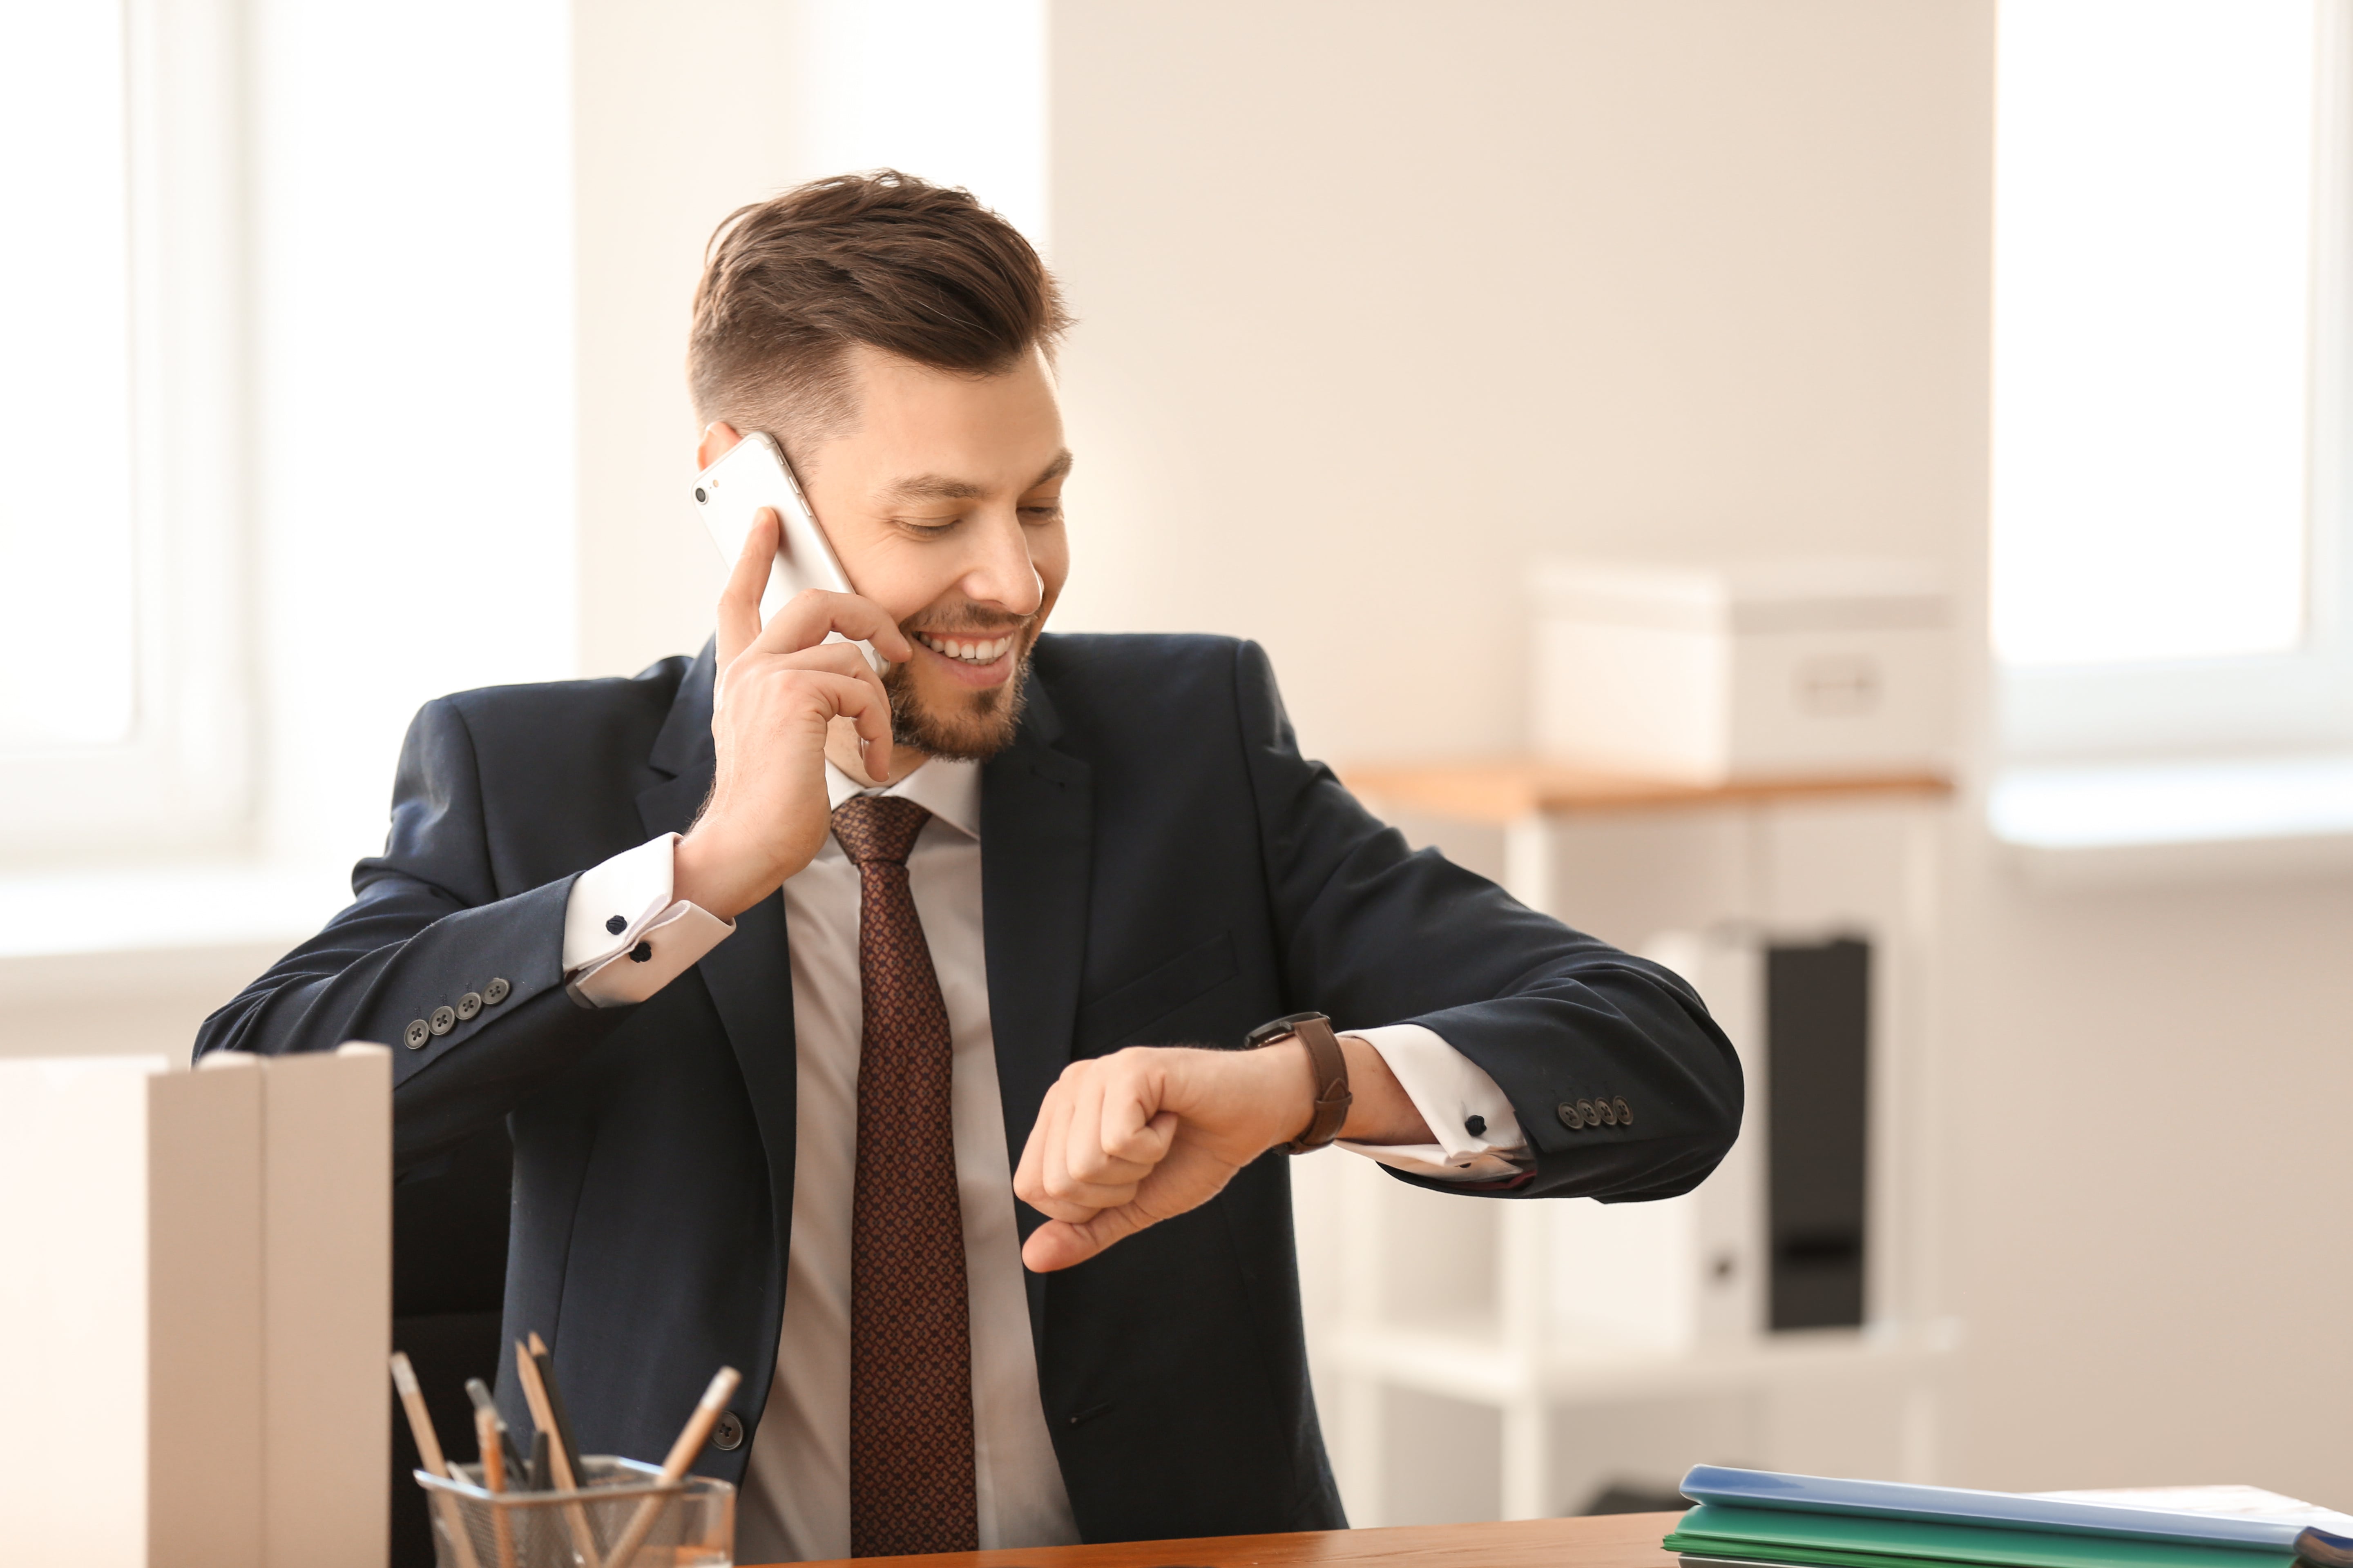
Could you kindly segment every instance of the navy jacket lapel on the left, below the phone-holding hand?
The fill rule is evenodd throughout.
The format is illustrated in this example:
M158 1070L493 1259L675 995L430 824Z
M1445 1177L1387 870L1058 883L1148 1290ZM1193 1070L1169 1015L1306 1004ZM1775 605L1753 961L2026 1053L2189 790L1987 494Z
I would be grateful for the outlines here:
M671 717L647 759L668 773L638 792L638 816L647 835L685 832L711 795L715 752L711 748L713 649L687 670L671 703ZM736 931L696 964L711 1004L727 1027L736 1070L751 1093L760 1145L767 1150L767 1185L776 1213L776 1258L784 1258L793 1225L793 1119L798 1079L793 1065L793 961L786 952L784 893L769 893L736 914ZM781 1276L781 1265L779 1265Z

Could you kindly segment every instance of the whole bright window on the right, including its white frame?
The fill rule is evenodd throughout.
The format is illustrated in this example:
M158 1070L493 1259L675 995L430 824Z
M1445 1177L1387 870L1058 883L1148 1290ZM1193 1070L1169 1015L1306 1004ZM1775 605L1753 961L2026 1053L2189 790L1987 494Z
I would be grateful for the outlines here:
M1993 651L2012 757L2353 741L2348 0L2007 0Z

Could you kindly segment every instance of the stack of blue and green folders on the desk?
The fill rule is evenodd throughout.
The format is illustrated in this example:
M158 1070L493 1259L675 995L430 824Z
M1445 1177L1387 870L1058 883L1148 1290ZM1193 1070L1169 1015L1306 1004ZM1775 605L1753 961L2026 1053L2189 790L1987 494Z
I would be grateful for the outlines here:
M1682 1479L1699 1507L1661 1544L1682 1568L2294 1568L2353 1533L2273 1493L2198 1490L2141 1505L1699 1465Z

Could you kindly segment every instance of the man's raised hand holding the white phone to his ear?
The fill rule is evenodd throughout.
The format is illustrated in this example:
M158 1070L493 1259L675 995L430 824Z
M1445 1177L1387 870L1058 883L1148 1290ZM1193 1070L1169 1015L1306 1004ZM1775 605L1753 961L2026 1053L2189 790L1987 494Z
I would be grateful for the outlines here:
M873 599L816 588L760 625L760 595L776 557L776 512L762 510L720 592L718 686L711 741L718 776L704 813L678 842L673 896L720 919L753 907L816 856L831 830L826 726L849 719L871 778L889 776L889 696L849 642L882 658L913 658L899 625Z

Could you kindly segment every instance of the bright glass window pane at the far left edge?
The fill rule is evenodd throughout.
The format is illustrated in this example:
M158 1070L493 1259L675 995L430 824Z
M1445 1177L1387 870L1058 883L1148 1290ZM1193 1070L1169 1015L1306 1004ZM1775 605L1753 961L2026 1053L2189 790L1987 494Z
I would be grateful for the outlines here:
M125 66L118 5L0 7L0 750L134 719Z

